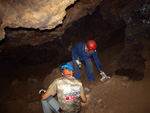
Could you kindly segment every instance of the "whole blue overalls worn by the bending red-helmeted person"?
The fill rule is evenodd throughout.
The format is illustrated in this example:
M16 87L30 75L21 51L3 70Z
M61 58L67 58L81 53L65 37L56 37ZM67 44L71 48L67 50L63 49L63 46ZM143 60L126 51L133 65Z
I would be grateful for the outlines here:
M86 55L85 46L86 46L86 42L80 42L73 48L72 61L74 67L74 77L80 80L79 66L76 63L76 60L78 60L79 58L80 61L85 62L88 80L95 81L93 63L90 57L93 56L93 59L99 71L102 70L102 66L100 64L100 61L97 58L96 50L94 51L94 53L89 53L88 55Z

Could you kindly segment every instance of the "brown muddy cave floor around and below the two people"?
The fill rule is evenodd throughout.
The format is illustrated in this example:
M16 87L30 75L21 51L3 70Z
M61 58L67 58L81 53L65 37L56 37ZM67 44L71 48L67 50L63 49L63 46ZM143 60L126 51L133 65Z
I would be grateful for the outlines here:
M104 68L107 66L103 62L115 60L112 57L112 59L108 58L109 54L110 51L107 51L101 55ZM118 54L119 50L113 55ZM115 64L112 63L112 66ZM126 76L113 74L111 80L102 83L99 81L100 76L96 73L96 81L91 84L88 82L83 66L80 71L81 81L83 86L90 87L91 91L87 93L88 103L82 104L81 113L150 113L150 62L146 62L146 67L145 76L140 81L132 81ZM5 70L7 74L18 74L23 79L1 78L0 113L43 113L38 91L44 87L45 76L50 76L50 83L59 77L56 73L59 68L52 72L57 76L51 76L52 74L48 71L49 64Z

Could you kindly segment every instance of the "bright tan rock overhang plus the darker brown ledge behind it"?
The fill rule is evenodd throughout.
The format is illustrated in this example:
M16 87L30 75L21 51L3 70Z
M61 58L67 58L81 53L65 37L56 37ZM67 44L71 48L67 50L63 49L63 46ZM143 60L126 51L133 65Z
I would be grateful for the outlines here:
M99 0L81 0L70 10L66 10L76 0L0 0L0 39L4 38L5 27L53 29L62 24L52 34L62 35L67 26L79 18L92 14L100 4ZM66 17L65 17L66 16Z

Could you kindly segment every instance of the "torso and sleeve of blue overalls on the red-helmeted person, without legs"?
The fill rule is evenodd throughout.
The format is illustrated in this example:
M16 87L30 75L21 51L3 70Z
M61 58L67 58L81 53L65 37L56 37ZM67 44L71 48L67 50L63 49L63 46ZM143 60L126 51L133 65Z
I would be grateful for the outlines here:
M72 51L72 57L74 57L75 60L80 59L80 61L84 61L90 57L93 56L93 59L95 61L95 64L98 68L99 71L102 71L102 66L100 64L100 61L97 57L97 52L95 51L94 53L90 53L88 55L86 55L86 52L85 52L85 46L86 46L86 42L80 42L78 43L74 48L73 48L73 51Z

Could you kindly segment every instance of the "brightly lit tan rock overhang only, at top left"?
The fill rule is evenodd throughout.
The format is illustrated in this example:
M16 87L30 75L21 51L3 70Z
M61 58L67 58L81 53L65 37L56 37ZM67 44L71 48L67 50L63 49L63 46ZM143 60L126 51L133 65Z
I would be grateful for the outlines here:
M62 23L66 15L65 9L74 2L75 0L1 0L1 29L52 29Z

